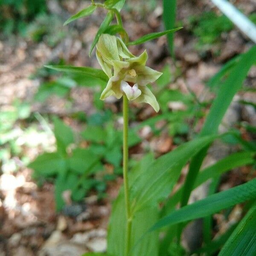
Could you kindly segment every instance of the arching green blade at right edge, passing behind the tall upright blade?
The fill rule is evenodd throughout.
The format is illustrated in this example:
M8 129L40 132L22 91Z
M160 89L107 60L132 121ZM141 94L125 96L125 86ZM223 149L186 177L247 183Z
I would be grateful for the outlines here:
M193 189L197 188L210 178L219 177L223 173L228 172L234 168L254 163L254 155L255 152L246 151L233 153L227 157L224 157L223 159L204 169L202 172L199 172ZM175 208L177 203L180 201L182 190L183 186L181 186L180 189L178 189L177 192L175 192L175 194L172 195L170 199L168 199L165 207L162 210L162 215L167 214L167 212L170 212Z

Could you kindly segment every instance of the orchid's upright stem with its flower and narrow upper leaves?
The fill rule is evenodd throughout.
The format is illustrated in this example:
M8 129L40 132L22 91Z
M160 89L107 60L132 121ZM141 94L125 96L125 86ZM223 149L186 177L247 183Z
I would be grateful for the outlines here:
M136 41L129 42L128 34L122 26L122 19L119 13L124 3L125 0L107 0L104 4L95 3L92 0L89 7L70 17L65 22L66 25L73 20L90 15L97 7L108 10L108 14L102 22L90 49L91 54L93 48L96 46L96 57L104 74L100 70L86 67L47 67L60 71L84 73L86 76L104 79L107 84L100 96L101 100L105 100L109 96L115 96L117 99L123 97L123 179L126 210L124 255L128 256L131 247L132 220L128 185L128 102L148 103L154 108L154 111L158 112L160 109L159 104L154 94L147 87L147 84L156 81L162 73L145 66L148 60L146 50L140 56L135 56L129 51L127 46L131 44L142 44L145 41L175 32L180 28L152 33ZM114 15L116 16L117 25L111 25ZM116 34L119 34L120 37L116 36Z

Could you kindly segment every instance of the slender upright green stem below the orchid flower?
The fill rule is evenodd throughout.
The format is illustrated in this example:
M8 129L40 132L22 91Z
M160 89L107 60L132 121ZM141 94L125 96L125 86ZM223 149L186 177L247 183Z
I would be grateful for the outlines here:
M125 189L125 212L126 212L126 237L125 237L125 256L130 250L131 241L131 209L129 198L129 184L128 184L128 99L123 95L123 178Z

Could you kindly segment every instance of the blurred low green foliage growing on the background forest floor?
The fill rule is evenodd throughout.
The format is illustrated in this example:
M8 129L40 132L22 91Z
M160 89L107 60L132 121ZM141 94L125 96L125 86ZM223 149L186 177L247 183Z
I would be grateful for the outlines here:
M61 4L61 1L57 2ZM136 9L137 13L145 17L148 12L154 11L156 6L156 0L146 3L143 1L130 3L128 1L125 11L133 12ZM249 15L249 17L256 22L255 14ZM4 38L16 34L35 44L44 41L49 47L55 47L70 32L70 28L63 27L62 24L63 18L49 12L45 0L0 0L0 28L3 32L1 36ZM220 44L221 35L234 29L233 24L226 16L213 11L202 12L200 15L189 15L186 20L177 20L176 25L184 26L186 32L195 36L194 48L199 52L206 52L212 45ZM218 52L215 53L218 55ZM47 64L52 63L67 64L63 59ZM137 123L137 126L130 130L130 147L142 142L143 139L138 136L138 131L144 126L149 127L154 136L160 136L162 131L167 130L174 145L186 142L195 136L198 122L204 118L211 103L211 99L198 100L198 96L192 90L184 94L178 88L170 89L169 85L182 76L182 67L177 66L175 70L171 70L167 64L161 71L163 76L157 80L157 87L152 88L160 103L161 113ZM229 69L225 70L227 73L228 71ZM223 73L221 77L225 74ZM209 80L208 84L211 90L217 90L221 77ZM116 175L120 175L122 172L122 131L119 127L115 133L113 132L116 129L116 122L120 119L120 113L119 111L114 111L116 112L114 113L111 109L105 108L104 102L99 100L105 84L91 78L88 79L81 74L60 74L44 67L30 74L30 78L39 79L41 82L32 102L16 100L12 105L12 110L0 113L0 144L3 146L3 149L0 150L2 171L4 172L5 169L18 170L20 163L15 162L14 157L19 157L24 166L29 163L26 152L23 152L22 146L24 145L27 147L40 145L43 151L52 151L52 145L48 145L45 138L53 135L56 141L56 150L40 155L30 163L29 167L35 169L34 177L38 180L38 184L43 184L44 180L55 183L57 209L60 210L63 207L64 201L61 194L67 189L72 190L74 201L81 201L92 188L96 189L99 198L104 197L106 182L115 179ZM96 87L95 84L97 84ZM45 116L32 112L31 104L47 102L47 99L52 96L64 98L66 101L64 108L71 110L73 99L70 93L73 88L80 86L90 87L93 92L93 105L97 110L90 116L86 116L82 111L72 113L71 118L87 124L83 131L73 131L54 115L52 117L52 115ZM170 104L171 102L174 104ZM253 105L252 102L241 103ZM139 112L131 109L131 122L138 121ZM165 120L166 123L157 128L156 124L160 120ZM38 130L34 125L34 122L38 121L43 130ZM48 124L51 122L53 122L54 128ZM17 123L21 124L18 125L18 128ZM254 129L251 125L246 124L243 124L243 127ZM59 134L64 135L59 137ZM20 136L24 138L20 139ZM37 139L32 139L34 137ZM67 137L70 137L70 140L66 141ZM80 145L84 141L88 145L81 147ZM230 141L235 143L237 139L230 137ZM150 151L149 147L148 151ZM95 162L92 162L92 155L96 159ZM106 163L113 166L113 172L104 166ZM97 172L102 174L96 175Z

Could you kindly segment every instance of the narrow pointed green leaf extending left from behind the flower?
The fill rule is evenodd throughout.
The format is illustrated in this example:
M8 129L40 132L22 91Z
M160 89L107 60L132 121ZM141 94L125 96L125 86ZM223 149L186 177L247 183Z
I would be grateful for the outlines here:
M63 71L63 72L70 72L70 73L80 73L86 76L91 76L96 79L101 79L102 81L108 82L108 76L99 69L92 68L92 67L73 67L73 66L45 66L47 68Z

